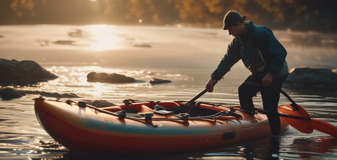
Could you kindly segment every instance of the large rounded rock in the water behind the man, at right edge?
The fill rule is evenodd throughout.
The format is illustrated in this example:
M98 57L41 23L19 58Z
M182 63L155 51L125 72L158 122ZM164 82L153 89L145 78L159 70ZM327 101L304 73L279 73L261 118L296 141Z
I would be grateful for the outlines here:
M325 68L299 67L290 70L283 87L337 91L337 74Z

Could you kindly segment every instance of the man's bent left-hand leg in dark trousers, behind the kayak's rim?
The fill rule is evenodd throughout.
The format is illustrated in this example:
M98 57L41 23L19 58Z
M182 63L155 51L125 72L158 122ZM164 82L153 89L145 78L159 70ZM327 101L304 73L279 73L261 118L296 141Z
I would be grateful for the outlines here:
M239 86L239 100L241 109L253 111L253 96L263 88L259 78L253 75L248 76L245 81Z

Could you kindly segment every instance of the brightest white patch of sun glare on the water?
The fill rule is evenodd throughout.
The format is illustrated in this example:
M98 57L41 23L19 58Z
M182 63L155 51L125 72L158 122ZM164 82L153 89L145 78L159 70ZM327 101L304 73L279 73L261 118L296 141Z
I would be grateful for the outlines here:
M120 38L115 35L115 27L108 25L90 25L89 32L93 35L95 41L90 45L90 49L94 51L105 51L110 49L118 49Z

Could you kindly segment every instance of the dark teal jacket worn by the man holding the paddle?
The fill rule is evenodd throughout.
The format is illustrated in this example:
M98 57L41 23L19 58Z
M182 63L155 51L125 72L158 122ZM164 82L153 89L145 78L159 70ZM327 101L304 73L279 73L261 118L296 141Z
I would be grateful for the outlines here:
M285 61L287 51L282 44L275 38L273 32L266 27L257 27L252 21L245 22L247 25L244 35L234 38L227 47L227 52L221 59L218 67L211 77L220 80L231 67L240 59L240 49L245 44L253 44L258 48L268 66L268 72L273 75L273 79L288 74L288 66ZM249 36L251 34L251 36ZM242 43L241 43L241 42ZM275 77L277 75L277 77Z

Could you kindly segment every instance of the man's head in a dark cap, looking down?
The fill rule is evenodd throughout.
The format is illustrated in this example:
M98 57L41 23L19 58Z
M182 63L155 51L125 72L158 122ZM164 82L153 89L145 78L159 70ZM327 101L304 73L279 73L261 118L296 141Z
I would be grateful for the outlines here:
M223 18L223 30L228 30L229 35L240 37L245 32L244 21L247 15L241 16L237 11L228 11Z

